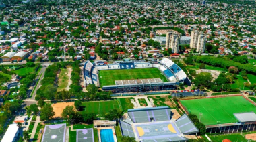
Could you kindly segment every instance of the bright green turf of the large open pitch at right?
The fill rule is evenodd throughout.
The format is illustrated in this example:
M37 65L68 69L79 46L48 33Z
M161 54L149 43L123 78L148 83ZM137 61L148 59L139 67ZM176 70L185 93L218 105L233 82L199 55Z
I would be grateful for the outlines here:
M256 113L256 107L243 96L181 100L181 104L189 113L197 115L198 119L201 116L201 123L205 125L235 123L234 113Z

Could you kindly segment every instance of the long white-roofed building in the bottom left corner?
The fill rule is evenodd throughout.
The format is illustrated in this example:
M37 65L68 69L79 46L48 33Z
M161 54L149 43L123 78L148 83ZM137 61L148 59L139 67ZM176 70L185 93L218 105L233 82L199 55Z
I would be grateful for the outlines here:
M1 142L14 142L18 139L19 135L19 127L17 124L11 124L9 125L7 131L5 132L5 135L3 136L3 139Z

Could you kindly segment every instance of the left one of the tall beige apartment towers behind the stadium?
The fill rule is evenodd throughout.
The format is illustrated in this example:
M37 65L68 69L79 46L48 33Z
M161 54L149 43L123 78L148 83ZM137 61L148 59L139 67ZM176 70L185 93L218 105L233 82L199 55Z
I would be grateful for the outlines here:
M181 34L177 31L166 33L166 48L171 48L173 53L179 53L179 42Z

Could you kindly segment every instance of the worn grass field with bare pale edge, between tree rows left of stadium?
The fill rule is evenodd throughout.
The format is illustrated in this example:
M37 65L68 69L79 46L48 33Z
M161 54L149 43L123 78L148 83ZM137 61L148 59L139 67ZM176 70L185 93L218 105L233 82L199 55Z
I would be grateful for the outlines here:
M58 91L69 90L69 85L71 84L71 72L72 68L63 68L58 78Z

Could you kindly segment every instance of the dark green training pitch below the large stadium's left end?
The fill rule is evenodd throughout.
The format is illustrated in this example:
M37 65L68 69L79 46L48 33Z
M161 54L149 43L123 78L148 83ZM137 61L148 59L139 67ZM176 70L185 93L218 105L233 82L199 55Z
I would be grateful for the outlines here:
M102 101L102 102L84 102L82 104L85 106L83 113L96 113L100 116L103 116L105 113L108 113L112 109L121 109L118 100L112 101Z

